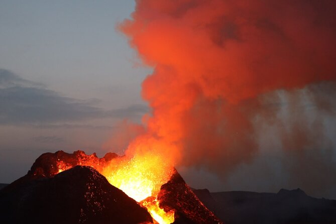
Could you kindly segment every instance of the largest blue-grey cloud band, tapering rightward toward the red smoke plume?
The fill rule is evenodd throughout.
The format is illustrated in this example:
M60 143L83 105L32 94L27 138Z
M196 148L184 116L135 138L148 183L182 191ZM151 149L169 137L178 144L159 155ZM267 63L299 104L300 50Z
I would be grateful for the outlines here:
M58 92L45 88L12 73L0 70L0 124L23 125L92 118L138 118L147 112L140 104L126 108L104 110L94 106L94 102L61 96Z

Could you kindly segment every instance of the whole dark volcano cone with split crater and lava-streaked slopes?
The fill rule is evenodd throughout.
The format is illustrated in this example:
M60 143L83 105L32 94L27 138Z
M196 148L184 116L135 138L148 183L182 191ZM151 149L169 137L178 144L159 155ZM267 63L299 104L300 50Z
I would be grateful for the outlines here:
M157 195L141 201L111 185L102 173L122 159L83 151L42 154L0 191L1 216L6 223L222 223L176 169Z

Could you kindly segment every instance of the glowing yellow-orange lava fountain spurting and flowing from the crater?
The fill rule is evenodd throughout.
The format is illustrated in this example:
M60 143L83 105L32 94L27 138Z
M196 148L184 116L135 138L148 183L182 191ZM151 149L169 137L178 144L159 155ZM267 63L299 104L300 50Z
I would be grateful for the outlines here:
M131 158L123 156L100 161L91 155L75 163L58 159L57 173L74 165L91 166L105 176L111 185L123 190L129 197L145 206L157 222L160 224L174 222L174 211L164 211L159 207L157 200L161 186L173 173L173 167L166 164L163 157L148 153Z

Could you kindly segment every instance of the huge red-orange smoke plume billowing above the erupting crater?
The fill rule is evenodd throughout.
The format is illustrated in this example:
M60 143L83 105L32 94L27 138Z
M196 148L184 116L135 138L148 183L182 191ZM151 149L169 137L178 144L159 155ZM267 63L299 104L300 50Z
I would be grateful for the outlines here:
M120 29L154 68L142 91L152 115L128 153L222 174L250 161L254 119L277 120L265 95L336 79L335 12L328 0L136 1ZM285 136L284 146L297 140Z

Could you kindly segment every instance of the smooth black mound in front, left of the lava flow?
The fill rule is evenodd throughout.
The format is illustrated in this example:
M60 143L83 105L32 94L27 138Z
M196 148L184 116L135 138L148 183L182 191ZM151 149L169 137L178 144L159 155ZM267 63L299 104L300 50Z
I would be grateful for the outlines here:
M95 169L75 166L0 191L2 223L145 223L147 209Z

